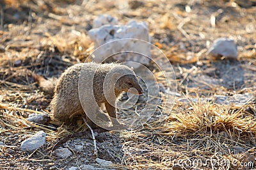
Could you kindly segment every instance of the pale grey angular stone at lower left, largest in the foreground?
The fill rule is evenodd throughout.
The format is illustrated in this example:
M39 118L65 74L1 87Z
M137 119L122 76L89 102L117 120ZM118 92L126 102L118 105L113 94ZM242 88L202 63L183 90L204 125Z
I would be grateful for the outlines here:
M36 150L37 148L40 148L41 146L46 144L45 136L46 134L44 131L37 132L35 135L32 135L31 137L29 137L28 139L21 143L20 150L33 151Z

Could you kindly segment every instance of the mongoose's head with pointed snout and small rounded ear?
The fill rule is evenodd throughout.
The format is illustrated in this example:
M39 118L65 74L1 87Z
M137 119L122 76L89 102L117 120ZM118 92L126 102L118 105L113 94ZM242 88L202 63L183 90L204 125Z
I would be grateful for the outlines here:
M128 66L116 66L113 69L112 81L115 81L115 91L130 91L134 94L143 93L135 73Z

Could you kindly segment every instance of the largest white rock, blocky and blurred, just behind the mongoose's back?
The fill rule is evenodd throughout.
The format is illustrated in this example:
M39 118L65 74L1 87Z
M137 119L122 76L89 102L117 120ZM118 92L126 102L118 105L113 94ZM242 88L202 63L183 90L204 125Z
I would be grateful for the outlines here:
M92 55L93 61L97 63L104 60L134 61L135 63L129 63L128 66L138 68L140 65L136 65L136 63L148 65L150 62L151 45L148 43L150 42L150 37L148 36L148 27L145 22L138 23L132 20L125 26L106 25L91 29L88 31L88 35L93 40L95 48L102 45ZM116 54L118 52L121 53ZM108 59L109 56L112 56L113 59Z

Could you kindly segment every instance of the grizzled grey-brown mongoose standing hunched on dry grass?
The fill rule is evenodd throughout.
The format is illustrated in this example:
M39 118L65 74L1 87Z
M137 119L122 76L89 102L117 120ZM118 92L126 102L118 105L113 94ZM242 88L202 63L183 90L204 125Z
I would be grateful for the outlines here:
M90 81L92 81L92 85L88 85ZM41 84L44 85L42 82ZM107 84L106 87L104 87L104 84ZM113 87L113 91L111 91L111 87ZM90 89L92 89L92 93L88 93ZM106 111L111 118L116 118L116 98L118 98L122 91L127 92L129 89L133 89L131 91L134 93L143 93L135 73L128 66L117 63L78 63L65 70L56 82L54 97L50 104L51 113L56 120L74 123L76 118L84 115L83 107L91 109L97 107L90 104L94 98L97 105L105 104ZM136 90L134 91L134 89ZM82 93L85 92L81 102L89 101L82 104L83 107L79 100L80 90ZM109 95L111 92L115 94ZM115 96L114 98L113 95ZM86 121L90 122L87 119ZM111 121L113 125L119 123L116 119L111 119ZM92 122L90 124L92 125Z

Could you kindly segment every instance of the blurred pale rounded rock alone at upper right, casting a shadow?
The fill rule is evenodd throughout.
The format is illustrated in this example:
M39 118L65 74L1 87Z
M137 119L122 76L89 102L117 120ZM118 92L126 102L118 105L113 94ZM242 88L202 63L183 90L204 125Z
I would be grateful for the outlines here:
M237 59L237 47L234 40L229 38L218 38L213 42L207 54L214 57L225 56L229 59Z

